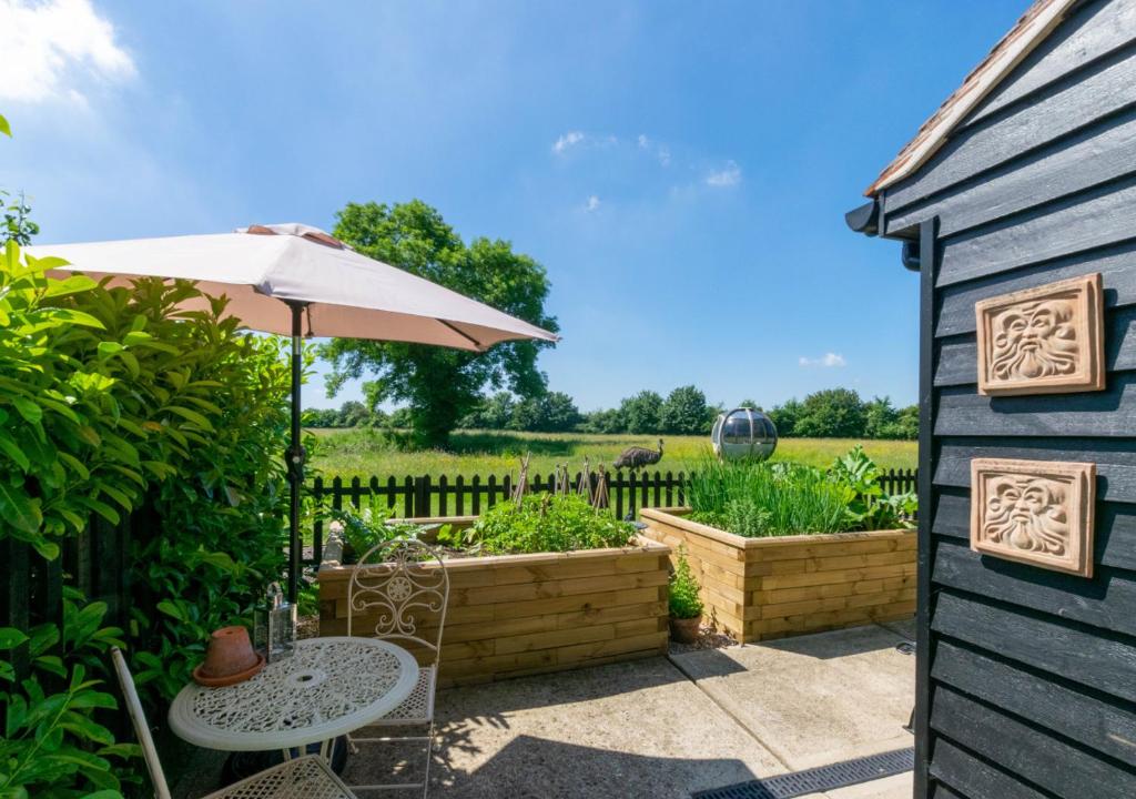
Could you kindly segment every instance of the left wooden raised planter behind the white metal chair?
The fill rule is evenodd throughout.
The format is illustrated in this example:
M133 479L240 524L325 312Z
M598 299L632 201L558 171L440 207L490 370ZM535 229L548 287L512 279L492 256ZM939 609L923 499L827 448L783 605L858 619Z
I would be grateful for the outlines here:
M473 516L415 519L468 526ZM345 635L351 566L332 538L318 574L319 633ZM441 685L559 672L667 651L670 549L642 546L446 560ZM374 619L369 627L373 629ZM368 630L356 616L357 634Z

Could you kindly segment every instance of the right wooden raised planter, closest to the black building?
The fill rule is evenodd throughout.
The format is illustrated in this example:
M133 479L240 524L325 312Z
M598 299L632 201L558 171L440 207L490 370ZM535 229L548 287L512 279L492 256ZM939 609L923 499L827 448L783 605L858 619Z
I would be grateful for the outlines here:
M916 609L913 530L749 539L683 518L690 508L643 508L642 535L686 548L705 617L740 641L763 641Z

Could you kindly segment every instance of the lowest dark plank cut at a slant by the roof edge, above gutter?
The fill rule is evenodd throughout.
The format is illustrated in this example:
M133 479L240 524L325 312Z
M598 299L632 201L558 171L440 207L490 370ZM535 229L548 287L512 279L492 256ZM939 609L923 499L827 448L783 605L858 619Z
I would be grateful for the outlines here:
M1036 101L950 139L916 174L887 191L887 210L943 191L1136 102L1136 56L1122 48L1037 94Z

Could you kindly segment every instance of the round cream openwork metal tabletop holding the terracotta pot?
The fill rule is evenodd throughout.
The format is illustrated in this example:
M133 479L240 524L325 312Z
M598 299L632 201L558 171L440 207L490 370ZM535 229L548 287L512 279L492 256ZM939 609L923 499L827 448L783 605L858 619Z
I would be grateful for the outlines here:
M190 743L225 751L327 741L382 718L418 682L414 656L369 638L296 641L292 657L226 688L186 685L169 726Z

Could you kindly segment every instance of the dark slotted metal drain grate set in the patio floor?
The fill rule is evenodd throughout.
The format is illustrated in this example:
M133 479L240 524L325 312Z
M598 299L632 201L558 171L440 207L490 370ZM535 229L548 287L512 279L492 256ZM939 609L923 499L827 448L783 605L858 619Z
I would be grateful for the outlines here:
M914 749L896 749L855 760L834 763L830 766L699 791L692 799L792 799L902 774L913 767Z

